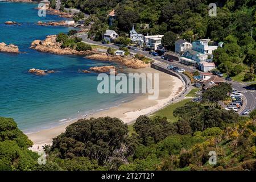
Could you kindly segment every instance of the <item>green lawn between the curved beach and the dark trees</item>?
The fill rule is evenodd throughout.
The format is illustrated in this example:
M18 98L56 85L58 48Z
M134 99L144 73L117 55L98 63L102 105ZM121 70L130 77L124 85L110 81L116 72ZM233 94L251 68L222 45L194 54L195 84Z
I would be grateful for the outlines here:
M174 110L177 107L181 107L184 106L184 104L186 104L187 102L191 101L191 98L187 98L184 100L181 100L180 102L174 103L174 104L170 104L166 107L164 107L163 109L156 111L156 113L152 114L150 117L155 117L155 116L160 116L160 117L167 117L168 121L170 122L176 122L178 121L179 118L175 118L174 117Z

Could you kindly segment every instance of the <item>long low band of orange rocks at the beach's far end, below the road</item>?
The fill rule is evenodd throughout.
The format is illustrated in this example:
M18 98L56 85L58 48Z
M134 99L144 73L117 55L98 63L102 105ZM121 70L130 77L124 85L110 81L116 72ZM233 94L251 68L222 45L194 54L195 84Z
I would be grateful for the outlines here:
M86 56L88 59L102 60L102 61L114 61L119 64L125 65L128 68L146 68L149 64L144 63L142 60L131 58L131 57L121 57L121 56L110 56L106 53L97 53L94 55Z

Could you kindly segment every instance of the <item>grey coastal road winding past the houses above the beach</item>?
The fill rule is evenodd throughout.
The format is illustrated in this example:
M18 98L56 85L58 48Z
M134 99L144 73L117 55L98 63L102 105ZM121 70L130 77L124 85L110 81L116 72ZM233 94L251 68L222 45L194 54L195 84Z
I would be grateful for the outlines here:
M111 47L111 48L119 49L118 46L115 46L113 44L102 44L101 42L95 42L93 40L90 40L90 39L87 38L86 34L85 35L79 35L79 37L82 38L82 41L85 42L85 43L96 44L98 46L104 46L104 47ZM161 59L160 56L157 56L157 57L152 56L148 53L148 51L141 51L141 50L137 50L137 51L129 50L129 51L131 53L141 53L144 56L150 57L151 59L154 59L154 60L158 60L162 63L166 63L167 65L175 65L176 67L185 69L185 71L188 71L188 72L199 71L195 67L188 67L187 65L181 64L177 61L170 62L170 61ZM256 90L250 90L246 87L245 84L240 83L240 82L236 82L236 81L227 81L227 82L232 84L233 89L241 91L243 96L245 96L246 106L243 107L243 109L239 112L240 114L242 114L247 109L250 109L250 110L256 109Z

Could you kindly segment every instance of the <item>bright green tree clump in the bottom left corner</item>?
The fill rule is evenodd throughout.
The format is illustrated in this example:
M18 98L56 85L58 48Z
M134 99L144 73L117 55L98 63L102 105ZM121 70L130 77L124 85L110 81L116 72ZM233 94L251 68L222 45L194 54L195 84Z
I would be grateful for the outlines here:
M0 117L0 170L29 170L38 154L28 150L32 141L20 131L11 118Z

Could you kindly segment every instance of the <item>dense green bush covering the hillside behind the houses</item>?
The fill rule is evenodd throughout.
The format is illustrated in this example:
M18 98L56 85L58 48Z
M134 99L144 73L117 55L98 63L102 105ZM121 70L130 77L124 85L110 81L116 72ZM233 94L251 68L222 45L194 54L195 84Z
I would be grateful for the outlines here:
M62 0L62 3L65 7L76 7L92 16L90 20L94 24L89 37L97 41L102 39L102 32L111 29L121 36L118 42L127 45L129 38L126 34L134 25L136 31L143 35L164 35L162 44L172 51L177 37L191 41L209 38L214 42L224 42L224 46L213 53L218 69L237 81L255 79L256 5L253 0L216 1L216 17L208 15L210 1L206 0ZM113 9L117 19L109 26L108 14ZM141 26L145 23L149 24L149 28ZM244 73L240 75L241 72Z

